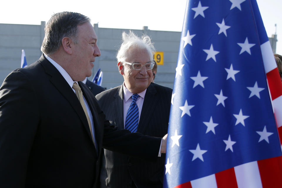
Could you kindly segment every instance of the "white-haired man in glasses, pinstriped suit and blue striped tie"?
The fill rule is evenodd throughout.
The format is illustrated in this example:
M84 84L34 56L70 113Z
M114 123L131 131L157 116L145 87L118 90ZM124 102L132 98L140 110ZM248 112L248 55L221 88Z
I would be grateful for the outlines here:
M150 37L139 38L130 32L123 33L122 39L117 66L124 83L96 95L98 103L106 118L120 129L162 137L167 133L172 89L151 83L155 50ZM135 103L138 108L132 107ZM162 188L164 155L152 162L106 149L104 153L101 188Z

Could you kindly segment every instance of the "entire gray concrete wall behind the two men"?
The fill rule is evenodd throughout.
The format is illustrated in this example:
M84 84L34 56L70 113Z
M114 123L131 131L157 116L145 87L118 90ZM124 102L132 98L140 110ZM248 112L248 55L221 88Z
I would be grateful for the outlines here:
M22 49L25 50L28 65L41 56L44 25L45 22L41 25L0 24L0 84L12 70L20 67ZM101 56L96 58L89 79L92 80L101 68L103 87L110 89L121 85L123 77L118 72L115 55L121 44L122 32L129 32L129 29L99 28L98 24L94 24L94 29ZM155 83L173 88L181 32L152 31L147 27L132 31L138 36L146 33L155 43L156 51L164 52L164 65L158 65Z

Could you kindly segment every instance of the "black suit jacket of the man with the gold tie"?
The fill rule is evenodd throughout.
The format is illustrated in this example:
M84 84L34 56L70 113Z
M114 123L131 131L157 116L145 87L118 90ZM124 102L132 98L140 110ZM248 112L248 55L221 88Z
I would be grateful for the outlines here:
M6 77L0 88L0 187L98 187L102 144L157 158L160 138L117 130L90 89L78 84L93 116L96 149L78 98L44 55ZM143 144L151 142L147 151Z

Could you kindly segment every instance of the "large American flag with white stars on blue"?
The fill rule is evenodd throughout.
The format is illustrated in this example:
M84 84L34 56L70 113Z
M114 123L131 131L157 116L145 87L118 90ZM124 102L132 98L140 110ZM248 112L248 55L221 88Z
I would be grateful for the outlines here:
M256 1L187 1L164 187L282 187L281 95Z

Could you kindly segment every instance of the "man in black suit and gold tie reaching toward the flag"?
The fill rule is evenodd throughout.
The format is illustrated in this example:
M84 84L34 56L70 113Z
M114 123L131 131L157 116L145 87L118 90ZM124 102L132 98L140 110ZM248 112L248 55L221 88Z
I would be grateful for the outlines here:
M98 187L102 147L157 159L162 139L117 130L80 82L100 56L96 42L88 17L54 14L40 59L4 80L0 187Z

